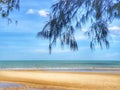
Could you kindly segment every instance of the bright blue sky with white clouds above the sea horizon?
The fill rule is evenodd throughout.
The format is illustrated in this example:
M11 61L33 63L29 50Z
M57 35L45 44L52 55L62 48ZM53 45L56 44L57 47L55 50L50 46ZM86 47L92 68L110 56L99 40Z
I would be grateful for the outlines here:
M120 20L109 25L110 48L94 51L89 47L89 38L83 32L75 34L79 50L64 49L59 44L49 54L48 40L37 38L48 20L51 5L55 0L20 0L20 10L10 14L13 22L8 24L0 18L0 60L120 60ZM14 20L18 21L16 25Z

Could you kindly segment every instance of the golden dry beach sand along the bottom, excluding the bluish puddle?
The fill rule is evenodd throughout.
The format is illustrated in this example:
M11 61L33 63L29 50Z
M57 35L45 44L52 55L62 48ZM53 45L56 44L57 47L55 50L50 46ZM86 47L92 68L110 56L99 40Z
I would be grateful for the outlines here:
M1 70L0 82L23 85L5 90L120 90L120 74L110 73Z

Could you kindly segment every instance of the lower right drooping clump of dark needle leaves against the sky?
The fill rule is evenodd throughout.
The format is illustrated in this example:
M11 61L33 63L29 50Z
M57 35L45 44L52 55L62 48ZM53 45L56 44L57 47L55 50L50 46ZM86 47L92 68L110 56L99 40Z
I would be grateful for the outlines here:
M94 46L96 44L100 45L100 47L102 48L102 43L104 43L107 48L109 47L109 42L107 40L108 28L105 21L101 20L96 23L93 23L90 28L90 31L88 31L88 35L91 38L91 49L94 49Z

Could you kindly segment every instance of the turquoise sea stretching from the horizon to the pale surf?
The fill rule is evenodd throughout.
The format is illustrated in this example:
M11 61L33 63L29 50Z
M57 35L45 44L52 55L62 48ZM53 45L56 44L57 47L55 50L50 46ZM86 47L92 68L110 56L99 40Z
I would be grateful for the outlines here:
M116 71L120 72L120 61L0 61L0 70L50 70L50 71Z

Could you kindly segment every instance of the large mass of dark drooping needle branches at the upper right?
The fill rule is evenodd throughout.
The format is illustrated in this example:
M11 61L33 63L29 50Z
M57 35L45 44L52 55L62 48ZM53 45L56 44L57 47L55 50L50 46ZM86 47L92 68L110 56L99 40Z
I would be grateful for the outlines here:
M59 0L52 6L49 21L38 33L49 39L49 49L60 39L61 45L77 50L74 32L90 22L86 32L90 37L90 47L103 44L109 47L108 24L120 18L120 0Z

